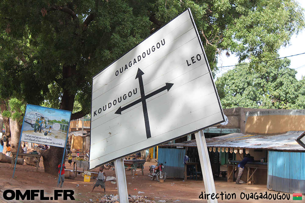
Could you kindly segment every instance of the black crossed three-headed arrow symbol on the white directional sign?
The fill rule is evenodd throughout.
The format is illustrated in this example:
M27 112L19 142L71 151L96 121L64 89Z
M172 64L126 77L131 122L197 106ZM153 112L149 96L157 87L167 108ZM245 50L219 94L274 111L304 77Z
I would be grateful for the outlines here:
M174 85L173 83L165 83L165 86L161 87L160 89L157 89L155 91L153 91L152 93L148 94L147 96L145 96L145 91L144 91L144 85L143 85L143 79L142 79L142 75L144 75L144 73L142 72L142 70L140 68L138 68L138 72L137 75L135 77L135 79L139 79L139 85L140 85L140 93L141 93L141 98L138 100L135 100L134 102L126 105L125 107L119 107L118 110L115 112L115 114L121 114L122 111L136 105L137 103L142 102L142 107L143 107L143 113L144 113L144 121L145 121L145 128L146 128L146 137L147 138L151 138L151 133L150 133L150 127L149 127L149 119L148 119L148 113L147 113L147 105L146 105L146 99L164 91L167 90L167 92L170 90L170 88Z

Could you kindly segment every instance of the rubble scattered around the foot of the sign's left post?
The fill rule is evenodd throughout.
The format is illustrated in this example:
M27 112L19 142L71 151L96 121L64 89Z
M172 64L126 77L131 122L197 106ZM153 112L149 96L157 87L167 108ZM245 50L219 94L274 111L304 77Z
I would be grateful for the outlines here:
M119 203L119 197L118 195L103 195L101 197L94 196L92 199L88 199L88 201L85 201L84 203L89 202L102 202L102 203ZM139 196L139 195L128 195L128 201L133 203L156 203L154 198L147 198L146 196Z

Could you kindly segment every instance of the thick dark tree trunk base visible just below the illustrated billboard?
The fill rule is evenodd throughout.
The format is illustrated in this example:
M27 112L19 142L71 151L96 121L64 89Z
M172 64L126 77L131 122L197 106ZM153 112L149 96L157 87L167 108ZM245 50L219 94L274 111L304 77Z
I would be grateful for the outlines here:
M43 166L45 167L45 173L50 173L51 175L58 175L58 165L61 164L63 158L62 147L50 146L50 149L42 153ZM66 152L65 152L66 157ZM64 161L65 163L65 161Z

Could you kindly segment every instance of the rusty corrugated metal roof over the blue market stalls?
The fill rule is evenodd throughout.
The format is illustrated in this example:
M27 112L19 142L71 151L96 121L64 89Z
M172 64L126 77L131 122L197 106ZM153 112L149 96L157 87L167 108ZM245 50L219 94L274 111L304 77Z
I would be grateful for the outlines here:
M207 147L225 148L251 148L251 149L276 149L276 150L298 150L304 148L296 142L296 138L304 131L289 131L285 134L242 134L232 133L214 138L206 138ZM196 140L176 144L164 144L161 146L184 146L196 147Z

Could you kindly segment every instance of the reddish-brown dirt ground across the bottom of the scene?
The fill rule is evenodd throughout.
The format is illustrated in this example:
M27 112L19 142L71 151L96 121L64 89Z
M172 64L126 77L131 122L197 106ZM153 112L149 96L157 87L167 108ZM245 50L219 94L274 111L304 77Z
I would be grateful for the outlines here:
M152 199L156 202L160 200L166 202L180 202L180 203L197 203L197 202L207 202L206 199L199 199L199 195L201 192L205 194L204 184L202 180L186 180L180 178L168 177L164 183L159 183L157 180L150 180L149 174L149 165L155 163L145 163L144 168L144 176L140 170L137 170L135 176L131 175L131 171L125 171L126 173L126 182L127 182L127 191L130 195L139 195L146 196L149 199ZM0 202L90 202L96 201L99 202L99 198L104 195L104 190L100 187L95 188L93 192L91 192L94 180L91 179L91 182L84 182L84 177L81 175L77 175L77 177L72 179L65 179L63 184L64 190L73 190L75 198L74 201L63 200L62 197L59 197L59 200L54 200L54 191L60 190L57 185L57 176L51 176L44 172L43 162L41 157L41 162L39 164L38 172L35 172L35 166L29 166L24 163L24 165L17 165L14 178L13 169L11 169L11 164L9 163L0 163L1 168L1 180L0 180ZM70 166L69 163L66 162L67 170L73 170L73 163ZM93 171L98 171L95 169ZM115 170L104 170L107 176L115 177ZM78 186L77 186L78 185ZM106 181L106 194L117 194L117 184L112 184L111 181ZM218 199L218 202L273 202L273 203L288 203L292 202L292 194L290 193L290 199L285 200L266 200L266 199L249 199L246 198L241 199L240 195L242 193L246 195L251 195L251 193L263 193L263 195L267 194L278 194L275 191L268 191L265 185L247 185L240 184L237 185L235 183L227 183L226 179L219 178L215 180L216 192L221 194L236 194L236 199L226 200L225 195L223 195L223 200L221 200L221 196ZM5 190L20 190L22 193L26 190L44 190L44 197L52 197L53 200L40 200L40 197L35 197L34 200L4 200L3 192ZM284 193L280 192L279 195L281 197ZM287 194L287 193L285 193ZM51 198L50 198L51 199ZM303 195L303 201L305 197ZM298 201L296 201L298 202ZM302 202L302 201L299 201Z

